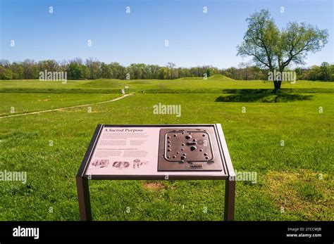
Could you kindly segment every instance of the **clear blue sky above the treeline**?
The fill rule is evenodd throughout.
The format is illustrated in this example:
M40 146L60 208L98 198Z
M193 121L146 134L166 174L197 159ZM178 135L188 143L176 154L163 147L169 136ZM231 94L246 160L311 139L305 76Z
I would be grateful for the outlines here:
M94 57L122 65L237 66L245 19L268 8L278 27L289 21L328 29L325 48L307 65L334 62L333 0L0 0L0 58L21 61ZM49 13L49 7L54 13ZM130 13L126 13L126 7ZM203 13L204 6L207 13ZM284 7L285 13L280 13ZM11 40L15 46L11 46ZM88 40L92 46L88 46ZM168 46L165 46L168 40Z

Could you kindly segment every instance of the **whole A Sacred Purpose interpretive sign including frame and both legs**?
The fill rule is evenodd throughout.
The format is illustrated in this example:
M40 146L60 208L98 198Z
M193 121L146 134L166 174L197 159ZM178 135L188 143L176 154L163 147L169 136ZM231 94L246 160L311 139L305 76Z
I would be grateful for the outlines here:
M221 124L99 124L77 174L82 220L92 219L91 179L223 179L233 220L235 172Z

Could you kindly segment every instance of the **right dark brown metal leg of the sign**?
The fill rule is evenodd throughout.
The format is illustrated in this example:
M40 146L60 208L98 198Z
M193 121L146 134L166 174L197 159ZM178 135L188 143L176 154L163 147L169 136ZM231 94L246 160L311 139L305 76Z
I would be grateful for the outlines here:
M226 179L224 220L227 221L234 220L234 200L235 200L235 179L232 180Z

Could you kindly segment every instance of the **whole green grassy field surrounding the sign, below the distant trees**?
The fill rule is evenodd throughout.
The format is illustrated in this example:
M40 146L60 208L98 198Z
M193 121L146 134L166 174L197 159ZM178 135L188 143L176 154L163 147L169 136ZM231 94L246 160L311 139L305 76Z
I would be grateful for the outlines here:
M134 96L92 105L91 113L82 107L4 117L11 107L23 113L108 101L124 86ZM269 94L272 86L221 76L0 81L0 171L27 172L26 184L0 181L0 220L78 220L75 174L99 123L221 123L235 169L257 173L256 184L237 181L235 219L334 220L334 84L297 81L277 95ZM182 115L154 115L158 103L181 105ZM223 216L219 181L90 181L90 189L97 220Z

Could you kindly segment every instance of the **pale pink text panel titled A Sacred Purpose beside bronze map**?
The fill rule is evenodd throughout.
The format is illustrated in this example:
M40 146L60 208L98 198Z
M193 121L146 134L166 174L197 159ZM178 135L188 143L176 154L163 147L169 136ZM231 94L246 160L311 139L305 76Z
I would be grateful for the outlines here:
M158 127L104 127L87 174L150 174L158 147Z

